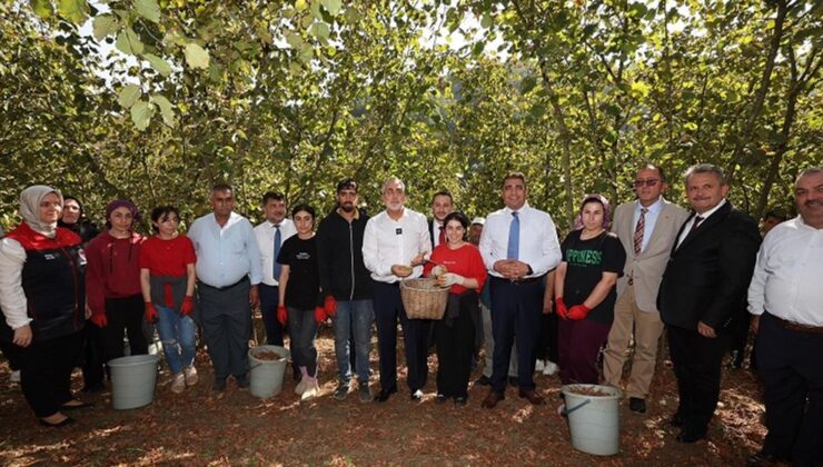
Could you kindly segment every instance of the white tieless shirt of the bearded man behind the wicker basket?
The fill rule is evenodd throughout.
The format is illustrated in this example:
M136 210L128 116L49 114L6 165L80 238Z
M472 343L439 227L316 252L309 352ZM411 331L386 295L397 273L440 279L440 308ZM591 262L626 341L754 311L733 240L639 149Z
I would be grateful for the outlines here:
M391 274L391 266L410 266L412 259L422 251L432 249L426 216L403 208L403 215L394 220L385 210L366 222L363 235L363 262L379 282L394 284L401 278ZM423 266L414 268L409 276L420 277Z

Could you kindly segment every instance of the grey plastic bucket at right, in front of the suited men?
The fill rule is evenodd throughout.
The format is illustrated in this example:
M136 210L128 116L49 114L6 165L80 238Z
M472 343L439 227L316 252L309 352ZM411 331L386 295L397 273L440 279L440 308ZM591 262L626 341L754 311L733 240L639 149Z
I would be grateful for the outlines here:
M604 396L575 394L575 389L598 391ZM621 444L621 390L611 386L566 385L562 393L566 401L563 414L568 417L572 446L595 456L617 454Z

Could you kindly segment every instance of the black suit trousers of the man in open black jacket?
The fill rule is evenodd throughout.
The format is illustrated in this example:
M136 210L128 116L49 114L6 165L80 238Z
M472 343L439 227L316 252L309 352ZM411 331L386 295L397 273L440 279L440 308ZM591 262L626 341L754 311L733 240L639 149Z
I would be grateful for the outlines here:
M721 364L728 348L727 334L717 337L701 336L693 329L668 326L668 348L677 377L683 430L705 435L720 397Z

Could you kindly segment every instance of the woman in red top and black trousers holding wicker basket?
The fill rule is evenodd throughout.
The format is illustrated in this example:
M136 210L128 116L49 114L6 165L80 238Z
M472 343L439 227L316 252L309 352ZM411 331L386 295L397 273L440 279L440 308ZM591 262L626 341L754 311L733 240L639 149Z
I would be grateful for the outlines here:
M468 399L468 377L475 349L475 322L479 322L478 294L486 282L486 267L480 251L466 241L468 218L452 212L444 219L446 244L432 251L425 275L433 275L442 287L449 287L446 315L435 321L437 344L437 399L443 404L454 398L465 406ZM438 266L435 266L438 265Z

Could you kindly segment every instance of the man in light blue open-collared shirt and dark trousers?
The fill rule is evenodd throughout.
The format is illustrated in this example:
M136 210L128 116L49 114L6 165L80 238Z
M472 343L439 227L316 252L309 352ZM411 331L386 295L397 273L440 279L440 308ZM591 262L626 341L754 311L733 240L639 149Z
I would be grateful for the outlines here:
M228 185L211 189L212 213L197 218L189 238L197 252L197 294L202 332L215 368L214 390L226 389L232 375L248 387L251 308L259 304L260 251L251 223L234 212Z

